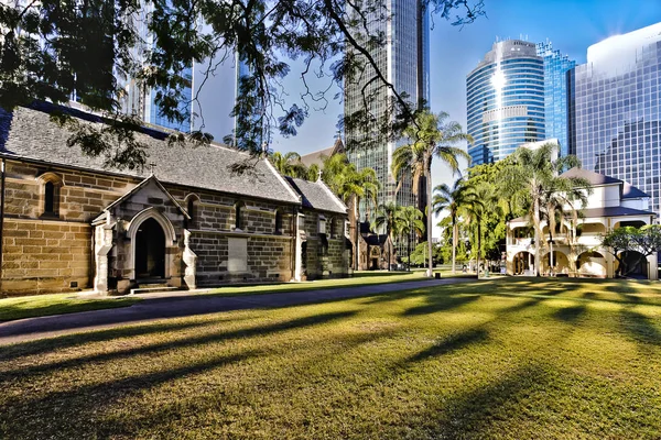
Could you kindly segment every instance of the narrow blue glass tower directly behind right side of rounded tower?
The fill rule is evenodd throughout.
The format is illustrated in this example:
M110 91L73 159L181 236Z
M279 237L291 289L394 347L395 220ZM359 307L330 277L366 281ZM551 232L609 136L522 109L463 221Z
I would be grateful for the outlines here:
M560 154L570 154L567 136L567 72L576 62L554 51L550 41L538 43L538 55L544 59L544 134L557 139Z

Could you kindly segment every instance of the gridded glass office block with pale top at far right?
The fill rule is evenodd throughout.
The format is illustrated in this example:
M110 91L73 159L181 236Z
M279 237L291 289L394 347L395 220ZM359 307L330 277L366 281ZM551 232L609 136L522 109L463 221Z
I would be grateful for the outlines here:
M583 167L661 191L661 23L592 45L572 73L570 138Z

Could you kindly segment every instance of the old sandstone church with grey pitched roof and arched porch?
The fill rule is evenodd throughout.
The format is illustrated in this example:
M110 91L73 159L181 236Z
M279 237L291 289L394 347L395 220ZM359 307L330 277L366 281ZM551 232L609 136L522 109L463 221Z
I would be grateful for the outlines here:
M67 145L53 109L0 110L0 295L347 275L347 208L321 180L284 178L221 145L169 144L150 129L138 134L149 169L107 167Z

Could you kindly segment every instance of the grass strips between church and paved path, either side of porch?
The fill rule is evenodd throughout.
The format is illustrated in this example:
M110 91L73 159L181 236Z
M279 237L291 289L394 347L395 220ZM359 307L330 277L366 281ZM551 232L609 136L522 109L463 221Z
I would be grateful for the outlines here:
M319 279L308 283L282 283L254 286L228 286L201 292L196 295L245 296L301 290L316 290L337 287L369 286L384 283L402 283L425 279L421 273L402 272L359 272L351 278ZM73 314L77 311L127 307L140 301L134 297L80 297L75 293L34 295L19 298L0 299L0 322L41 316Z

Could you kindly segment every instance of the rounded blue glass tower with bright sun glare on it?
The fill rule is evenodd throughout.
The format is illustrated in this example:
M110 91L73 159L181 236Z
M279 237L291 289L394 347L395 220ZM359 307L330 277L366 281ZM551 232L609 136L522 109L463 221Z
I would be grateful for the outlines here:
M494 43L466 77L473 165L496 162L527 142L545 139L544 61L520 40Z

